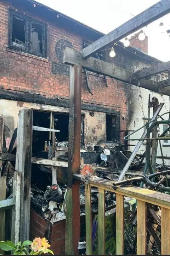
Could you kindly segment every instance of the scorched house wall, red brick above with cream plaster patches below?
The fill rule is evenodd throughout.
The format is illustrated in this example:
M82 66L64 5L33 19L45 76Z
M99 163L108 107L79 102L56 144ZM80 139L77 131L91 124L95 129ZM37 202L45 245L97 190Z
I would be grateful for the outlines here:
M9 9L47 24L47 58L41 58L8 47ZM57 102L68 101L69 66L62 63L64 48L67 46L81 51L83 40L92 41L94 38L89 38L87 34L80 36L79 32L76 33L75 31L73 33L71 27L63 28L60 17L56 18L55 22L50 22L36 14L36 8L34 14L32 14L24 7L23 9L16 8L3 1L0 2L0 21L0 98L15 100L16 102L15 104L12 101L4 103L3 100L0 100L0 115L5 116L5 125L10 130L11 136L16 126L14 120L17 118L19 108L23 106L23 104L17 103L17 101L23 101L23 99L22 96L15 97L16 91L20 95L24 95L24 93L34 94L34 98L36 98L36 95L37 98L38 95L44 95L46 98L50 97L52 100L49 100L47 105L53 105L52 102L57 105ZM87 140L90 140L90 143L96 143L102 137L103 139L106 137L105 108L108 112L117 113L120 116L120 130L126 129L127 120L127 99L123 83L107 77L108 87L106 87L102 75L88 72L88 77L92 94L87 91L83 73L82 104L86 104L86 109L89 105L89 111L101 112L97 109L100 107L102 114L97 114L93 122L91 122L92 118L88 116L86 124L88 128L85 134L86 144ZM9 93L12 96L9 96ZM29 97L25 96L24 101L29 101ZM15 105L15 108L13 108L13 105ZM32 104L29 104L29 107L32 108ZM125 120L122 120L123 116L126 117ZM102 132L101 129L96 129L97 134L93 136L91 130L98 124L98 121L102 121ZM91 126L90 123L92 123Z

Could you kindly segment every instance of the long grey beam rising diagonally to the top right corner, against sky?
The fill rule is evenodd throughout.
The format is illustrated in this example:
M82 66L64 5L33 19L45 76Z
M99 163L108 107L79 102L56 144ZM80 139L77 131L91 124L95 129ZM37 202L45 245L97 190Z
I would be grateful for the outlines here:
M149 23L159 19L160 17L170 12L170 1L161 0L149 7L145 11L141 12L137 16L128 20L115 30L111 31L107 35L102 36L95 42L83 49L83 57L89 58L93 54L100 52L102 49L117 43L122 38L134 33L142 27L145 27Z

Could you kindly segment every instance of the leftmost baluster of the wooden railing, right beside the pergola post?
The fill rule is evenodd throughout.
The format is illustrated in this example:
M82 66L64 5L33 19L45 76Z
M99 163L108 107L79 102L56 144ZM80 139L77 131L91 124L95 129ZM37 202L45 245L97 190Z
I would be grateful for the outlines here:
M85 184L86 207L86 255L92 255L91 187Z

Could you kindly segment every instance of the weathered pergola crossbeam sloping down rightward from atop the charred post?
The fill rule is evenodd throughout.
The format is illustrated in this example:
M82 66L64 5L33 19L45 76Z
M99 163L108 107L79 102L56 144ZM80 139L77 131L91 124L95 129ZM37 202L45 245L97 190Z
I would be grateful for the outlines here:
M74 49L70 49L68 47L64 50L63 63L69 64L71 66L77 65L86 68L89 71L107 75L108 77L115 78L125 83L138 85L137 80L131 81L132 72L130 72L129 70L120 68L118 66L115 66L114 64L110 64L106 61L101 61L100 59L96 59L93 57L84 59L81 52L77 52ZM140 87L152 90L156 93L162 92L163 94L170 96L170 88L163 87L162 84L154 82L151 79L141 79Z

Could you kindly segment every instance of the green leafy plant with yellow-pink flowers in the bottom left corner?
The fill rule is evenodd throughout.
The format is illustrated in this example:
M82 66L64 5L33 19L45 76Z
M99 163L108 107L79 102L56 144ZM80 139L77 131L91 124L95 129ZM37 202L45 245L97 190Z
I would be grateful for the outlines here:
M0 241L0 249L3 251L11 251L13 255L39 255L53 254L46 238L36 237L32 241L18 242L16 245L12 241Z

